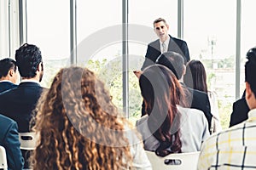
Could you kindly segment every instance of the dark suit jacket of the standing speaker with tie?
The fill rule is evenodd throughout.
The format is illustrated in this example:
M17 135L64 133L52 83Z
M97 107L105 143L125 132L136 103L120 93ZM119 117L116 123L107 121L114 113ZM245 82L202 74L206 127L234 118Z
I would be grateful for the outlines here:
M170 37L169 45L168 45L168 51L176 52L178 54L181 54L183 58L185 59L185 63L190 60L189 57L189 48L187 46L187 43L183 40L177 39L175 37ZM143 63L142 71L148 66L148 65L154 65L155 60L160 56L160 40L155 40L154 42L150 42L148 44L147 53L145 56L145 61Z

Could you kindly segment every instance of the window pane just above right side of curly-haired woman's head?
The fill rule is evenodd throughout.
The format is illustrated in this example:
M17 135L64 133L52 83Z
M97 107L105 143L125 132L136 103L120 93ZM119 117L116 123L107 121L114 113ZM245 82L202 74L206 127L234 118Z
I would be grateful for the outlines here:
M77 65L96 71L123 111L122 1L77 0Z

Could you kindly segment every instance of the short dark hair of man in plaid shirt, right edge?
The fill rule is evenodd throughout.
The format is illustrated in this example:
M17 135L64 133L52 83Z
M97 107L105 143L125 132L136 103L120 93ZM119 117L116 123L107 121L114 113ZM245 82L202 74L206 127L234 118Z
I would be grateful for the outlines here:
M253 94L256 95L256 48L251 48L247 52L247 59L245 64L245 82L250 84Z

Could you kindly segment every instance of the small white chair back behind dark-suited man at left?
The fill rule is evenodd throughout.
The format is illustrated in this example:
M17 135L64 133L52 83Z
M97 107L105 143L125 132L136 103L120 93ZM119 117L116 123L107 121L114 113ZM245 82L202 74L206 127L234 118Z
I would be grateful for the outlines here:
M36 133L19 133L20 149L35 150L37 146Z

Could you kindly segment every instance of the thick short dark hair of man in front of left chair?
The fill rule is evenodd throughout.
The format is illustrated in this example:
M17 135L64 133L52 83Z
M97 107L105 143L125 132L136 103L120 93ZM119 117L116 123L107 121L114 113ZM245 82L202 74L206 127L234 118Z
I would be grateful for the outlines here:
M21 77L32 78L37 75L38 64L42 62L40 49L32 44L23 44L16 50L16 63Z

